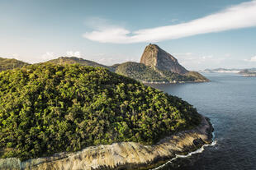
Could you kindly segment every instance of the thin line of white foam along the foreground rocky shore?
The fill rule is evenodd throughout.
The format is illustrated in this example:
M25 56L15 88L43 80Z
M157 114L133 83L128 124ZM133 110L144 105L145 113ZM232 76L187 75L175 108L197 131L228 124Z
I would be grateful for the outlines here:
M199 149L197 149L197 150L195 150L195 151L193 151L193 152L190 152L190 153L188 153L188 154L186 154L186 155L176 154L175 157L174 157L173 159L168 160L167 163L164 163L164 164L160 165L159 167L154 168L154 169L151 169L151 170L157 170L157 169L164 168L168 163L172 163L173 160L175 160L175 159L178 159L178 158L187 158L187 157L192 156L192 154L200 154L200 153L202 153L202 151L204 151L205 147L216 145L217 141L215 140L214 131L213 131L211 134L212 134L212 142L211 142L210 145L202 145L201 148L199 148Z

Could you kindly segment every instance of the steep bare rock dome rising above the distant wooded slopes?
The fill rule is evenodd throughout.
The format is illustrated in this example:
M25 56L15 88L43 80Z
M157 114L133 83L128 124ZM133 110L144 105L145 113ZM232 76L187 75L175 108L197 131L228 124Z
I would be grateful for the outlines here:
M187 69L178 63L171 54L155 44L149 44L140 58L140 63L149 67L156 67L161 71L173 71L178 74L187 73Z

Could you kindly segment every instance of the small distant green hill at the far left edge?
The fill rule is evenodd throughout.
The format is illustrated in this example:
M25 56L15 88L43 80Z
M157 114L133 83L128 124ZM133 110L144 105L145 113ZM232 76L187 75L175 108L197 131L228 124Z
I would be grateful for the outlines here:
M0 57L0 71L6 71L9 69L23 67L26 65L29 65L29 64L26 62L21 62L17 59L8 59L8 58Z

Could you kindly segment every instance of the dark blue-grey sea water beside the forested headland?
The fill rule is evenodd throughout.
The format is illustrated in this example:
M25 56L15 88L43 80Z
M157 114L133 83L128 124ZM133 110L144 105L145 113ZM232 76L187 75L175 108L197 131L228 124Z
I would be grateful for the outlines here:
M216 145L187 159L175 159L164 170L256 168L256 77L205 74L209 83L151 85L191 103L211 118Z

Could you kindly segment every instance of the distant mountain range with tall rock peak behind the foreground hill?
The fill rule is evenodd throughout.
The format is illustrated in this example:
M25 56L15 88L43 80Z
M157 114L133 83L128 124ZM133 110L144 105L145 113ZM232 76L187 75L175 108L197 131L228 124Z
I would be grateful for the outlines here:
M3 58L2 58L3 59ZM205 82L209 81L196 71L187 71L186 68L178 63L178 60L171 54L155 44L146 46L140 63L124 62L113 66L105 66L97 62L92 62L78 57L59 57L48 62L55 64L74 64L79 63L83 66L104 67L110 71L123 76L128 76L144 83L176 83L176 82ZM13 64L19 63L19 64ZM16 59L5 59L1 62L2 70L12 69L14 67L26 66L28 63ZM11 66L11 67L10 67Z

